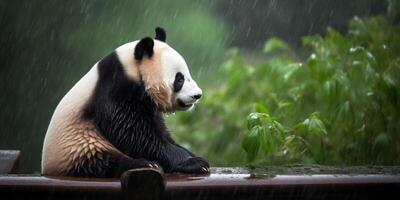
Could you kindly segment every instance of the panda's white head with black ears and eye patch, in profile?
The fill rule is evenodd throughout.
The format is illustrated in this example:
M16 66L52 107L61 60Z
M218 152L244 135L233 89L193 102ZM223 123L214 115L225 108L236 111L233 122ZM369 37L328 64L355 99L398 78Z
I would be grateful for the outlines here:
M119 60L128 77L144 84L159 111L189 110L202 96L202 90L183 57L165 43L165 31L155 31L155 39L145 37L119 47Z

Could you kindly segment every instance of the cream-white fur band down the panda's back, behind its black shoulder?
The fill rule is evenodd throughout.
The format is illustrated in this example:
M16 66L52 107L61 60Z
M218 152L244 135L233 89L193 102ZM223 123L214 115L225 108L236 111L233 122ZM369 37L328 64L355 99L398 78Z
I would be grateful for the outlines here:
M98 79L97 64L83 76L62 98L53 113L42 151L42 174L58 174L65 170L65 151L68 145L66 138L75 134L77 129L87 124L81 120L83 107L92 95ZM69 139L68 139L69 140ZM65 166L64 166L65 165ZM59 172L62 174L62 172Z

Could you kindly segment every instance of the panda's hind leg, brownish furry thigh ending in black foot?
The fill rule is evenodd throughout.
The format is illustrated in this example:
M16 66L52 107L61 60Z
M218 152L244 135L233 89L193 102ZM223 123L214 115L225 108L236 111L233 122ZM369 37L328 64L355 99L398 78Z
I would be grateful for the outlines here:
M160 168L156 162L133 159L115 148L96 129L80 129L73 136L67 136L62 143L66 159L63 169L69 168L68 175L80 177L117 177L129 169Z

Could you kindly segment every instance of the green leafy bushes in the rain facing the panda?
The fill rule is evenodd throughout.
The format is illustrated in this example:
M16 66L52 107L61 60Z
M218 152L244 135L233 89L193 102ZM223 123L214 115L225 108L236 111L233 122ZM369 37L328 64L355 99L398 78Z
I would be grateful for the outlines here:
M354 18L345 35L328 28L303 42L304 62L276 54L290 51L277 38L257 65L231 50L218 74L225 82L194 112L169 118L177 138L215 166L399 164L399 26Z

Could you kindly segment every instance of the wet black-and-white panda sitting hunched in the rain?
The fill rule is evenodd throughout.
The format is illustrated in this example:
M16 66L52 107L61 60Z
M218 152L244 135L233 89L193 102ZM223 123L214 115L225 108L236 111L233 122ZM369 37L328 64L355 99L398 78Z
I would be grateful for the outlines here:
M163 113L202 96L164 29L118 47L62 98L43 144L46 176L120 177L129 169L208 174L209 164L175 143Z

